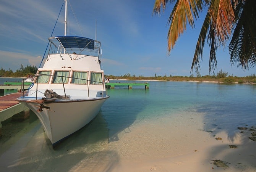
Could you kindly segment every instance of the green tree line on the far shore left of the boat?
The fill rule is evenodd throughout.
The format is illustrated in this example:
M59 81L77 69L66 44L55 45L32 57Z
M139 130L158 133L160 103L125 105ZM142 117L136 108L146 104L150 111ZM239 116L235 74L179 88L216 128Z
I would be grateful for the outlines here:
M9 70L3 69L3 67L0 69L0 76L2 77L27 77L36 74L37 67L36 66L26 66L24 67L22 64L19 67L19 69L16 70L16 72L13 72L9 68Z

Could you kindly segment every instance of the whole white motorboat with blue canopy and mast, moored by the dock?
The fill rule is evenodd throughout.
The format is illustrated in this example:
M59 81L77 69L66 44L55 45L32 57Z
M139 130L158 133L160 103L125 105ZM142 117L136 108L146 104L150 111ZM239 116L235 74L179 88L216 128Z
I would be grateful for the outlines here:
M94 119L109 96L100 68L99 41L65 33L50 37L48 50L28 92L16 101L36 113L55 145Z

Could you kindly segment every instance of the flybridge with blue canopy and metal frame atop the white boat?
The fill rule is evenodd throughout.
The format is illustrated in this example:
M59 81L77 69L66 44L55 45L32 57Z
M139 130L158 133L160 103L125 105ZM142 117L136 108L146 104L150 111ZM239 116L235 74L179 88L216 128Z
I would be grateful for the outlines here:
M50 37L49 54L81 54L83 51L90 52L92 56L99 57L100 42L86 37L78 36L56 36ZM83 53L82 53L83 52Z

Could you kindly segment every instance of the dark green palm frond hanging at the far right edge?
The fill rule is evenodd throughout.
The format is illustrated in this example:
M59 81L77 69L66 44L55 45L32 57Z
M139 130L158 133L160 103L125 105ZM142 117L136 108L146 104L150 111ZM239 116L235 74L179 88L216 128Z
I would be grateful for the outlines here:
M244 70L256 66L256 1L241 1L236 6L236 27L229 44L230 62Z

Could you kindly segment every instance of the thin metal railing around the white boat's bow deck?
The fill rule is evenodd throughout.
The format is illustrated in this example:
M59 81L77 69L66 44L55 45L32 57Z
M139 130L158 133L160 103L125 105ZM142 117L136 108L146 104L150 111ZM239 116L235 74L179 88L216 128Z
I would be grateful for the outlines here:
M36 77L36 100L37 100L37 91L38 91L38 77L39 76L54 76L54 77L61 77L62 78L62 85L63 85L63 90L64 90L64 94L65 94L65 99L66 99L66 91L65 91L65 86L64 86L64 80L63 80L63 77L65 78L70 78L70 79L80 79L80 80L86 80L87 81L87 92L88 92L88 98L89 98L89 82L97 82L97 83L100 83L100 84L103 84L103 87L102 87L102 95L101 97L103 97L103 93L104 93L104 87L105 85L107 85L107 83L105 82L99 82L99 81L94 81L94 80L89 80L89 79L81 79L81 78L76 78L76 77L68 77L68 76L58 76L58 75L49 75L49 74L35 74L35 77ZM35 82L35 81L34 81ZM24 82L23 82L23 98L24 98ZM107 90L105 90L106 92L106 96L107 96Z

